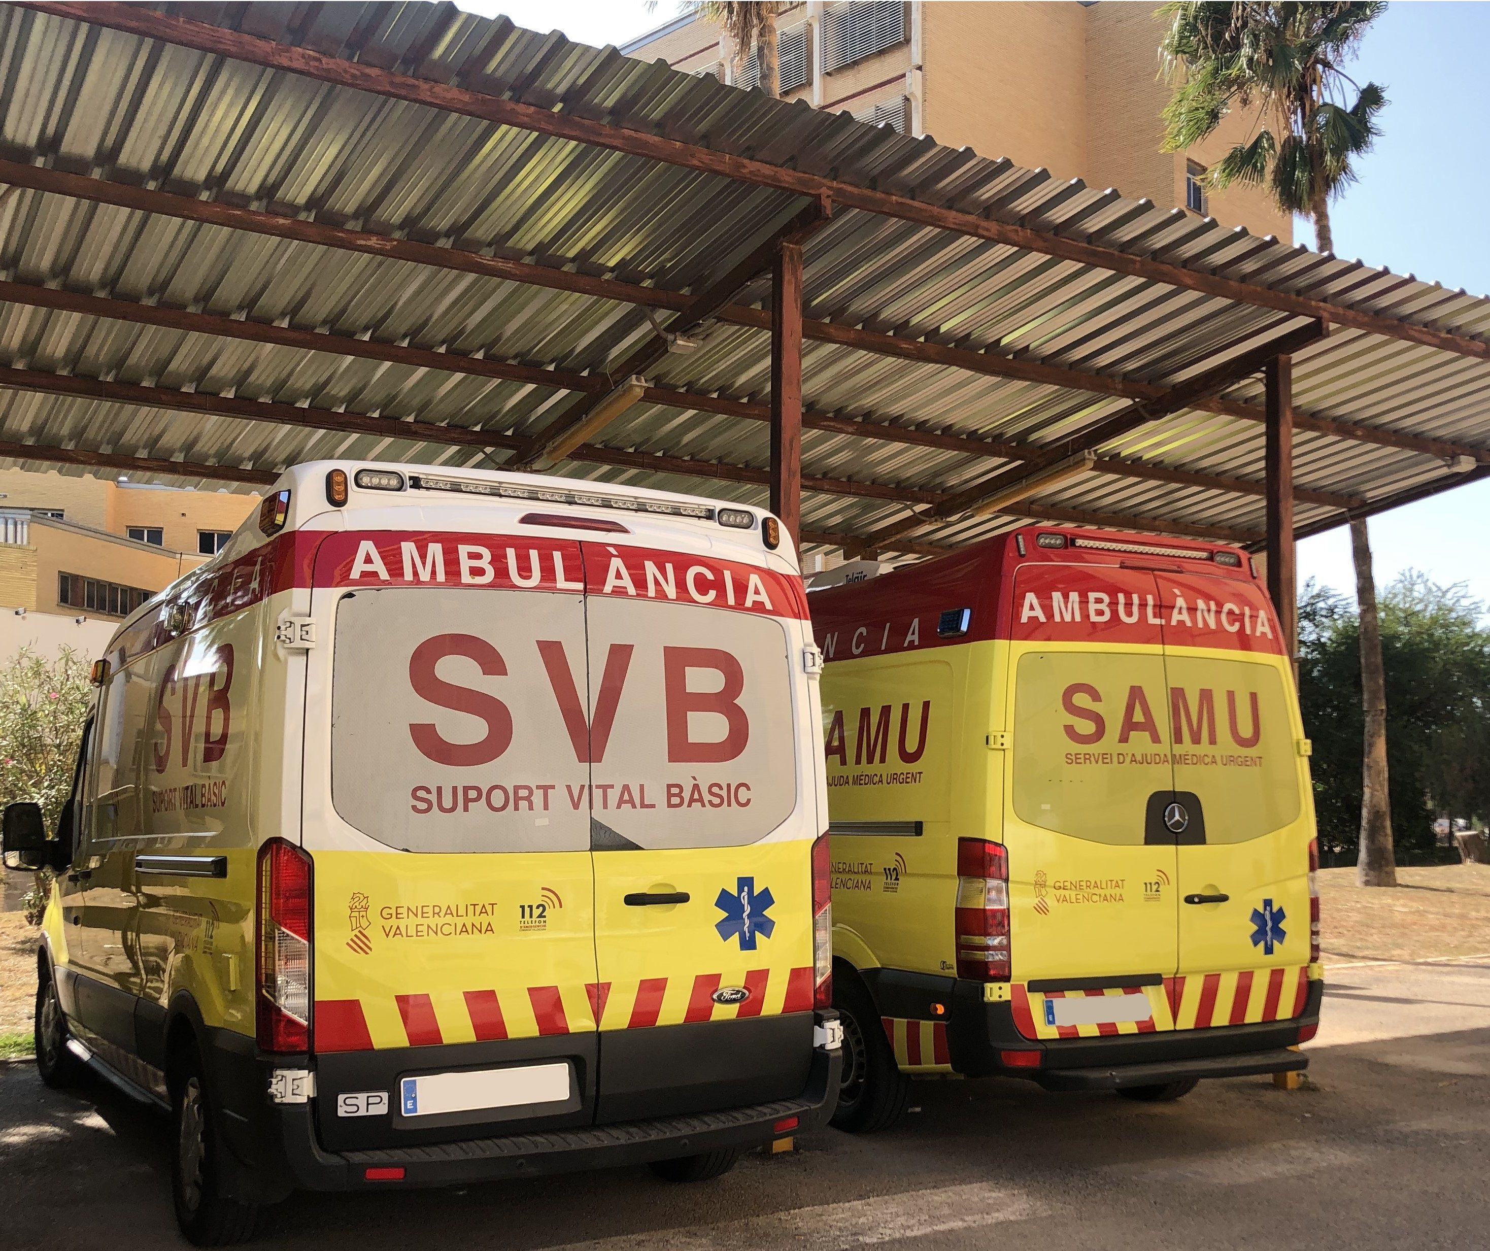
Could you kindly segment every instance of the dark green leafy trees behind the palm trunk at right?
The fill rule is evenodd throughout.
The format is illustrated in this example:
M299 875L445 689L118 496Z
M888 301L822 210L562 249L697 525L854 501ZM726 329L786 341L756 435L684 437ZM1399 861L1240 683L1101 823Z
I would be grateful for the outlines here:
M1463 587L1408 570L1380 603L1396 846L1433 852L1438 813L1490 815L1490 627ZM1314 740L1320 840L1354 852L1360 830L1360 621L1340 594L1299 596L1299 698Z

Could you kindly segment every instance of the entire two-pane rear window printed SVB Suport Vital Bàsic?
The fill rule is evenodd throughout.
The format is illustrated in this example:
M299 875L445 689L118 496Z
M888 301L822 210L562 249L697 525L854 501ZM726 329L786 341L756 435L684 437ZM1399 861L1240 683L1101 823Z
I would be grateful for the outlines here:
M723 847L799 794L781 621L489 588L341 597L332 801L411 852Z

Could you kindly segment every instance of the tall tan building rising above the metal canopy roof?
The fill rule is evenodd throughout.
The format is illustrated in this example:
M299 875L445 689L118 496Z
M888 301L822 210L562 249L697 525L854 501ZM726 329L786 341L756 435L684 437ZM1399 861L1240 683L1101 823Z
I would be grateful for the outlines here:
M1196 182L1253 119L1228 116L1198 147L1159 152L1170 86L1155 10L1125 0L811 0L778 18L782 98L1292 243L1292 217L1261 189L1205 194ZM738 69L718 28L693 15L621 51L746 88L757 80L754 57Z

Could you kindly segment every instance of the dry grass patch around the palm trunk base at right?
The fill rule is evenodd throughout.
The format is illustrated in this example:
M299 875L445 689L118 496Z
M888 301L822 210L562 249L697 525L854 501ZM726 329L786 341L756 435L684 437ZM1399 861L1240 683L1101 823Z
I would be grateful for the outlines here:
M1490 953L1490 865L1399 868L1398 889L1365 889L1354 868L1319 874L1326 964Z

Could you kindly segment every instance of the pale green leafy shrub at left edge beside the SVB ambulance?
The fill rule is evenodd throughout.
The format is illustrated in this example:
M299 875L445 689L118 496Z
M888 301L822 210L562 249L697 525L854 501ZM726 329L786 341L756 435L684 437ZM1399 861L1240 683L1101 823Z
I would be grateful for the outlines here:
M49 830L73 786L91 691L86 660L22 648L0 667L0 804L34 800Z

